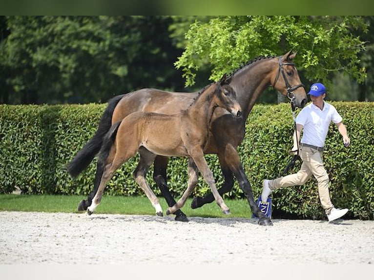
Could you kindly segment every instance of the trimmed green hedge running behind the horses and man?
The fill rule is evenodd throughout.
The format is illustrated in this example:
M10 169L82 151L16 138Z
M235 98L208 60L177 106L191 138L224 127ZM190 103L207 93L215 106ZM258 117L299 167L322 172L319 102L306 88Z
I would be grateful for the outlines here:
M374 103L332 102L343 117L351 146L345 148L334 125L326 140L324 162L331 179L332 202L350 209L349 218L373 220L374 210ZM92 190L96 160L77 179L68 175L65 166L96 131L106 104L85 105L0 105L0 193L15 187L29 194L77 194L85 197ZM278 177L291 155L293 120L289 104L257 104L247 120L247 132L239 155L252 185L255 199L263 179ZM218 186L222 174L215 155L207 160ZM138 157L129 160L108 183L105 193L144 195L132 178ZM297 171L297 162L293 171ZM161 195L152 180L148 182ZM291 171L290 171L291 173ZM196 195L209 191L200 178ZM168 182L176 198L187 184L187 159L171 158ZM235 182L224 198L244 198ZM273 193L273 218L297 217L320 219L324 211L319 202L314 178L303 186Z

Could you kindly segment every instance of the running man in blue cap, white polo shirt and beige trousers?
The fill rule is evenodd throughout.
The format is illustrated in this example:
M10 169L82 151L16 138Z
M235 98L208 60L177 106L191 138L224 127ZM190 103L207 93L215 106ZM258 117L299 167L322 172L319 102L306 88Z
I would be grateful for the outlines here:
M270 193L277 188L303 185L313 175L318 182L318 194L322 207L325 209L328 220L332 221L345 215L348 209L336 209L332 204L329 193L329 176L322 161L323 146L331 121L337 126L346 147L350 144L350 139L342 117L334 106L324 100L326 97L325 86L322 83L312 84L308 95L311 96L312 103L304 107L296 117L295 133L297 133L298 140L300 140L300 133L303 130L303 138L299 145L299 155L303 160L301 168L295 174L274 180L264 180L261 200L267 201ZM292 152L296 153L297 147L294 134Z

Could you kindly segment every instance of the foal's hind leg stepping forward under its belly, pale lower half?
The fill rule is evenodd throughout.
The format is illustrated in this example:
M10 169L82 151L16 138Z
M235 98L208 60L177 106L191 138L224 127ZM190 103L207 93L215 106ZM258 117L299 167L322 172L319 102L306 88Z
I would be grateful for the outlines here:
M140 154L140 160L139 160L138 166L136 167L133 173L133 177L137 181L139 186L143 189L147 198L151 201L152 206L156 210L156 215L162 217L163 213L162 213L160 202L145 180L145 176L149 169L149 166L151 166L156 155L149 152L144 147L140 147L139 154Z

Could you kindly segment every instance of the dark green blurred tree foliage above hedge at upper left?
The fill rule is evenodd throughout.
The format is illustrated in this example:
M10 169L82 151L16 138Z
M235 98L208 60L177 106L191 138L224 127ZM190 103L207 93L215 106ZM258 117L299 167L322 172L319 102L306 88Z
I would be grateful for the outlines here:
M6 17L1 66L13 102L99 102L142 87L183 89L170 17Z

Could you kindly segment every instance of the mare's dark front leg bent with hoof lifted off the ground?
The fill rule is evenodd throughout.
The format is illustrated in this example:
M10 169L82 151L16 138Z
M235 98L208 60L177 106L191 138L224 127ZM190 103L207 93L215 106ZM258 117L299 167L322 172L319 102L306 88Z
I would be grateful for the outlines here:
M218 189L218 193L222 196L223 194L228 193L234 186L234 176L227 165L224 157L218 155L218 160L221 165L222 175L225 179L225 182L221 188ZM205 197L196 197L191 202L191 208L196 209L204 204L211 203L214 201L214 196L212 193L208 193Z

